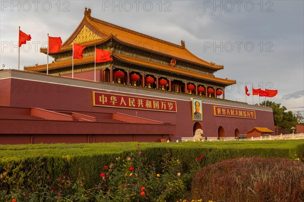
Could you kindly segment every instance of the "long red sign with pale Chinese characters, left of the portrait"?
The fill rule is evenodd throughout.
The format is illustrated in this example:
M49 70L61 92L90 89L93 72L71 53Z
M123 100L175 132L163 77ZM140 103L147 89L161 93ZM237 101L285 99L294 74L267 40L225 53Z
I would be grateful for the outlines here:
M176 102L93 91L93 106L177 112Z

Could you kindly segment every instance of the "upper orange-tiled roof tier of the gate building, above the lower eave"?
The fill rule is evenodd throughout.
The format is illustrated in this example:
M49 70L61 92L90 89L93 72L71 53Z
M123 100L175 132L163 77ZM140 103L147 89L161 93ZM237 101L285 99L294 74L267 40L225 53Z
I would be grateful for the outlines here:
M99 20L97 18L93 18L91 17L90 9L88 11L85 11L85 17L83 18L77 29L71 34L71 36L66 40L66 42L63 43L63 46L60 50L61 52L72 49L72 46L69 46L69 43L71 42L71 39L77 35L76 33L78 33L79 30L83 28L84 24L94 29L92 30L93 32L95 31L99 33L99 35L104 35L105 37L88 43L80 44L82 46L89 46L101 43L103 41L106 41L106 39L108 39L109 37L113 37L123 44L166 55L168 57L172 57L172 59L174 58L192 62L198 65L209 67L214 70L224 68L223 65L216 65L215 63L207 62L195 56L185 48L184 42L182 43L182 46L179 46L170 42L163 41L159 38L155 38L115 24L111 24ZM41 52L47 53L47 49L41 49Z

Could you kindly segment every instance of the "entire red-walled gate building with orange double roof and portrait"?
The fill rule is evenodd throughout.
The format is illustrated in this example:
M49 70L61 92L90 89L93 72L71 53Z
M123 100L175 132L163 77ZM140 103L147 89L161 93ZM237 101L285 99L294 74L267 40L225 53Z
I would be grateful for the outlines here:
M86 48L72 60L73 43ZM95 48L112 60L95 65ZM41 52L47 54L47 48ZM274 131L272 108L225 100L236 80L222 65L172 44L91 17L49 53L54 62L0 72L0 144L160 142L234 138ZM96 68L95 68L96 67Z

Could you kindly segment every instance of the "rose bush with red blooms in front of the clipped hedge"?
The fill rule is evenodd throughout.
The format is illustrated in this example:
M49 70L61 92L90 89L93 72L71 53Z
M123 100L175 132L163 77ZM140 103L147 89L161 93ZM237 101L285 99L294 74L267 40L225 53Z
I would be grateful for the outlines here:
M174 201L183 196L185 184L181 177L181 164L171 158L169 152L158 166L147 162L146 155L138 147L126 158L118 156L114 163L104 166L97 187L96 201Z

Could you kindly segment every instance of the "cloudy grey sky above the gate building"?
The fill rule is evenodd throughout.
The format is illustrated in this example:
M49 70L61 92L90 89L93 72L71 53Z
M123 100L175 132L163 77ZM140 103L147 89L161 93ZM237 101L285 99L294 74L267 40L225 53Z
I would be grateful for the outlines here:
M47 33L64 42L85 7L92 16L180 45L224 65L217 77L236 79L226 99L245 102L245 83L278 90L270 101L304 114L304 1L1 1L1 65L18 69L18 26L32 40L24 65L45 64ZM260 101L264 98L261 97ZM252 104L252 96L247 97ZM254 103L258 96L254 96Z

